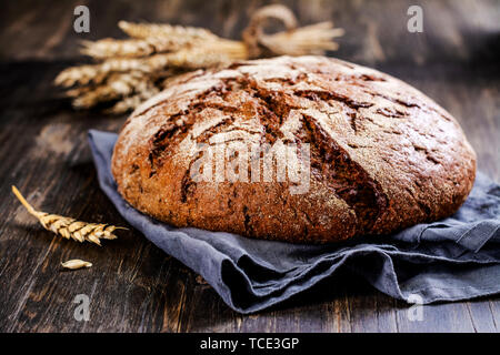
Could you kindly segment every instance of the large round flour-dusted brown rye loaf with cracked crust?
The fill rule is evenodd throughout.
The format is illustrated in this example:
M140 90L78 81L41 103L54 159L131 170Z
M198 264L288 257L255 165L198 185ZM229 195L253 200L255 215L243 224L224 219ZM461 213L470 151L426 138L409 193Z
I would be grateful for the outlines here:
M310 144L310 187L194 182L196 144ZM188 74L138 108L112 160L122 196L176 226L288 242L384 234L458 210L476 154L457 121L410 85L323 57Z

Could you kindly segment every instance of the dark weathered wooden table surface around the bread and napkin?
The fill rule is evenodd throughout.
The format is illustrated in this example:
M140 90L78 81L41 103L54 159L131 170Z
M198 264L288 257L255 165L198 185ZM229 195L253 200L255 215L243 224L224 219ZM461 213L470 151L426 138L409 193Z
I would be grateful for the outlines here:
M424 32L407 31L418 2ZM87 130L118 131L126 116L76 112L51 81L82 61L78 41L122 36L120 19L203 26L238 38L262 1L2 1L0 4L1 332L499 332L500 297L408 305L352 275L328 280L270 311L232 312L216 292L136 231L103 247L42 230L10 193L43 211L127 225L99 190ZM500 4L491 1L288 1L302 24L333 20L347 34L332 55L413 84L460 120L479 170L500 181ZM72 30L90 8L89 34ZM63 271L83 258L93 267ZM72 301L90 297L90 321Z

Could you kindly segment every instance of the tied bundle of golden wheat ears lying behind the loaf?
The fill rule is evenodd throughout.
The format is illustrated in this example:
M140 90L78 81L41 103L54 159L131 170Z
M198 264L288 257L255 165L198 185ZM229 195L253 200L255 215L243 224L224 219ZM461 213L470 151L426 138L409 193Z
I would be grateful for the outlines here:
M281 21L286 31L267 34L269 19ZM243 31L242 41L220 38L206 29L120 21L130 38L84 41L81 52L96 64L72 67L56 78L77 109L107 103L110 113L123 113L163 90L172 78L188 71L221 67L230 62L272 57L322 54L336 50L342 29L331 22L297 27L283 6L259 9Z

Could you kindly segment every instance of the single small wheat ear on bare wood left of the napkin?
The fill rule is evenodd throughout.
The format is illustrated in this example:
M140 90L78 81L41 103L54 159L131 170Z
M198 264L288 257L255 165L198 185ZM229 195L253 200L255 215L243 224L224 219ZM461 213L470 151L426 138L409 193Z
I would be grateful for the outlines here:
M67 240L72 239L80 243L87 241L101 245L100 239L116 240L117 236L113 234L116 230L127 230L122 226L80 222L71 217L40 212L34 210L33 206L26 201L16 186L12 186L12 192L28 212L36 216L46 230L66 237Z

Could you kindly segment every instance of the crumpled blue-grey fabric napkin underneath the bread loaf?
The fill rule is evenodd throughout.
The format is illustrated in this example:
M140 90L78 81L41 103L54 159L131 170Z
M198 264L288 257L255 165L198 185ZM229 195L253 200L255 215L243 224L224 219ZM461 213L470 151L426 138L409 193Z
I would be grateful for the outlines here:
M314 286L340 267L408 302L500 293L500 185L482 174L463 206L443 221L389 236L299 245L177 229L138 212L117 192L111 175L116 140L114 133L89 132L101 189L134 229L203 276L234 311L267 308Z

